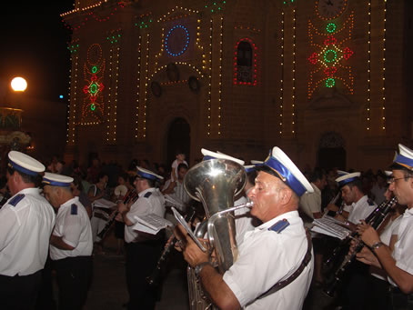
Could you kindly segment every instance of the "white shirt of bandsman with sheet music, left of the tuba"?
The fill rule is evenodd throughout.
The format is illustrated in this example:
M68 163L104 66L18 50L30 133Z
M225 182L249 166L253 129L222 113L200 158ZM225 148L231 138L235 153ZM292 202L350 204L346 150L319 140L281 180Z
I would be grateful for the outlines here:
M165 198L158 189L151 187L139 193L139 198L131 205L129 212L126 214L127 219L136 224L136 215L156 214L161 217L165 216ZM136 241L139 233L134 230L133 225L125 225L125 241L131 243Z

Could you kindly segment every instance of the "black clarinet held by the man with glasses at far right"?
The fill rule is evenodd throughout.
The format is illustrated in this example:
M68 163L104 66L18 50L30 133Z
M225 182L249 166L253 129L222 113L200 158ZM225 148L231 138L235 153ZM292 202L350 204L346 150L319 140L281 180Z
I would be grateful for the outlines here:
M396 205L396 203L397 203L397 198L396 197L391 198L388 201L388 203L386 205L384 205L384 207L381 208L378 212L376 212L375 216L373 218L371 218L370 225L374 229L377 229L378 226L383 222L386 215L388 215L388 212L391 210L393 205ZM359 236L356 238L356 240L357 240L358 243L357 243L354 251L351 254L348 253L348 255L346 255L344 257L343 262L341 263L341 265L339 265L336 273L334 274L333 281L324 290L324 292L330 297L334 296L334 292L336 291L337 285L341 282L341 279L342 279L343 275L345 274L345 272L348 268L348 265L350 265L354 261L354 259L356 258L356 255L358 254L358 252L361 251L361 249L364 246L364 243L361 241Z

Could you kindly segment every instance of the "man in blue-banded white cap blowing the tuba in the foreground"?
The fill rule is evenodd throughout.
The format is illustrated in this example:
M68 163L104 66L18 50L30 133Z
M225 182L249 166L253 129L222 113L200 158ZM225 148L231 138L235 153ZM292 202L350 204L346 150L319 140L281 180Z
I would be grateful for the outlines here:
M220 275L187 236L184 257L219 308L301 309L313 255L297 208L299 196L313 189L277 146L259 170L248 196L254 203L251 215L263 224L246 233L234 265Z

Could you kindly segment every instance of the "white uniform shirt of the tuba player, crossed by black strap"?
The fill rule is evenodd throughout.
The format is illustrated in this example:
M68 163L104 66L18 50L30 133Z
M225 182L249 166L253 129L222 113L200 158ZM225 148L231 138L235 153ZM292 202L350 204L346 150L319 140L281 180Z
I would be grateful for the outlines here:
M268 230L283 219L290 225L282 232ZM239 304L248 310L301 309L311 284L314 255L292 283L265 298L256 298L278 282L287 280L301 265L306 253L306 231L298 212L279 215L246 233L239 247L239 258L224 274L224 281Z

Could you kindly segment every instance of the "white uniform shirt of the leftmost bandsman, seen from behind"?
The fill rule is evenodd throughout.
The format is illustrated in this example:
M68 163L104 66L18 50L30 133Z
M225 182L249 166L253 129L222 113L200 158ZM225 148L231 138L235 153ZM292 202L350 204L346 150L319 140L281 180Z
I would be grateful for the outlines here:
M0 275L32 275L45 267L55 211L38 188L25 188L0 210Z

